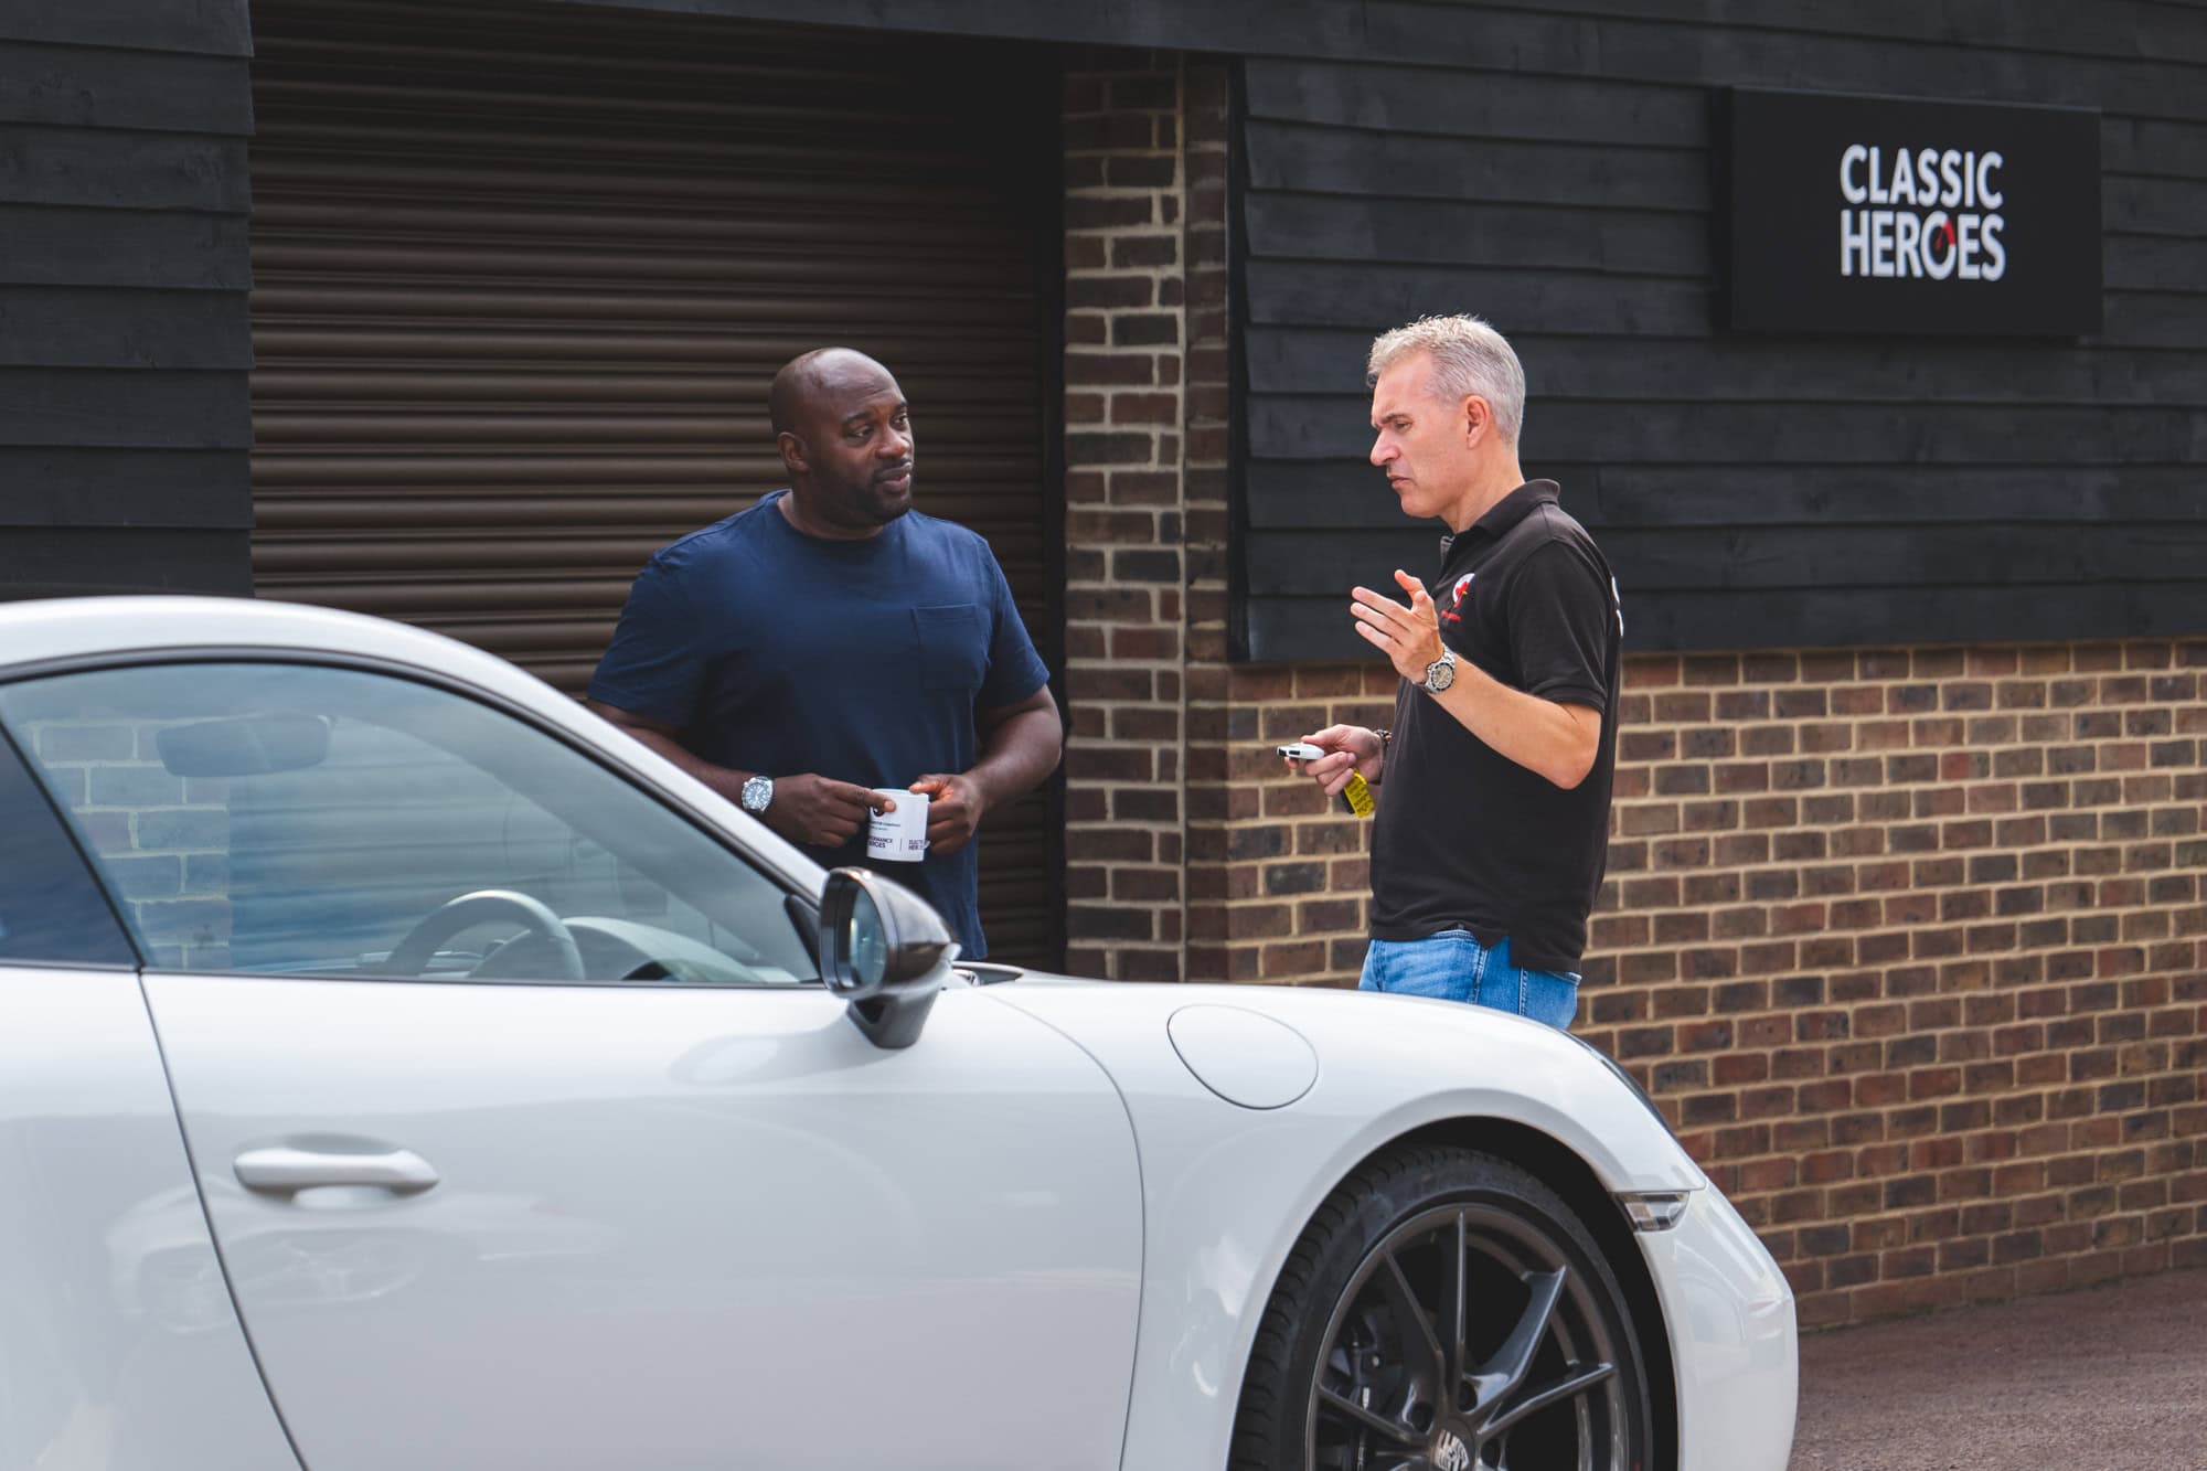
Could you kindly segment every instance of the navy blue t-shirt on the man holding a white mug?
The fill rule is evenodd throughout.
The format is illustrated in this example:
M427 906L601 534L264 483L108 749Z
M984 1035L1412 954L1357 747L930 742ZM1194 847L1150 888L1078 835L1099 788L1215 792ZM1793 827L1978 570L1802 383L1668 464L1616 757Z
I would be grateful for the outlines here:
M682 733L695 755L770 777L909 786L969 771L975 709L1048 682L989 543L909 510L865 541L806 537L786 490L662 548L636 576L589 698ZM867 864L865 824L821 864ZM984 956L975 844L874 868Z

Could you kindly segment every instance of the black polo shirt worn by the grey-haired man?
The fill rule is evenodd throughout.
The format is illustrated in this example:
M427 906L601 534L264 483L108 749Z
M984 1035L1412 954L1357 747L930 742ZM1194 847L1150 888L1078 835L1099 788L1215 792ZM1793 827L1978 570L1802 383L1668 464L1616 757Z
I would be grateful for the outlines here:
M1534 479L1457 537L1428 585L1459 663L1602 711L1587 780L1563 791L1463 729L1424 687L1395 694L1373 822L1373 939L1465 928L1527 970L1576 972L1609 857L1622 612L1609 563Z

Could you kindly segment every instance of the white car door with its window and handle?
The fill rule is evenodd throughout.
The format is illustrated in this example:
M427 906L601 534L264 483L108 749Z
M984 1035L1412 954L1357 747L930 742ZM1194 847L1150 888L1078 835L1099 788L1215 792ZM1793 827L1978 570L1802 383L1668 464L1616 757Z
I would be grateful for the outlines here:
M876 1049L775 879L463 689L146 665L0 720L135 731L135 782L46 775L309 1467L1117 1467L1141 1184L1062 1036L953 985Z

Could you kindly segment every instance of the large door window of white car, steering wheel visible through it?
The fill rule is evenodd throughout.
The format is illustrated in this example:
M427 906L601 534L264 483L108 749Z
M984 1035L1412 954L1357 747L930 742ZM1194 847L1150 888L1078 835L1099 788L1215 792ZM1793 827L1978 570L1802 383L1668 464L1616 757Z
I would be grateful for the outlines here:
M565 740L450 689L300 663L139 665L4 687L0 724L152 967L817 972L775 879Z

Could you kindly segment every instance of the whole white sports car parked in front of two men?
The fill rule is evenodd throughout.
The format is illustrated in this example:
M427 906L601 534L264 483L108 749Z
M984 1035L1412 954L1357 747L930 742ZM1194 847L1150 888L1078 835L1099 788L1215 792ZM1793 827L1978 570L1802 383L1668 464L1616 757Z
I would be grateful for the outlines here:
M1781 1471L1565 1034L964 965L519 669L0 607L0 1467Z

